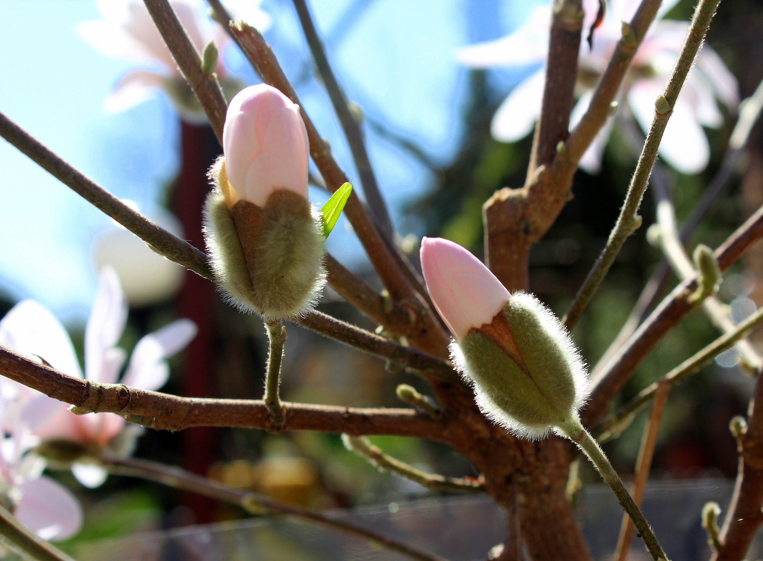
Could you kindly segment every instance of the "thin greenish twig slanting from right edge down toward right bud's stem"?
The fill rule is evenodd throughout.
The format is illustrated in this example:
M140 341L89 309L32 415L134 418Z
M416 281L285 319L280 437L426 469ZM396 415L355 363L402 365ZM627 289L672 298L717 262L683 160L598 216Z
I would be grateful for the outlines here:
M763 322L763 308L758 309L752 316L749 316L744 322L737 325L733 332L717 338L710 343L710 345L707 345L707 347L697 352L697 354L694 354L694 356L688 358L686 361L665 374L665 376L662 377L662 380L665 380L665 383L668 383L670 387L678 386L679 383L686 380L691 374L698 372L703 366L710 363L713 358L736 345L737 341L745 338L749 332L752 332L752 330L761 322ZM628 405L602 422L599 426L600 430L607 431L610 428L616 427L620 422L623 422L623 419L628 418L645 406L645 404L655 396L658 384L659 381L642 389L641 392L639 392L639 395L633 398Z

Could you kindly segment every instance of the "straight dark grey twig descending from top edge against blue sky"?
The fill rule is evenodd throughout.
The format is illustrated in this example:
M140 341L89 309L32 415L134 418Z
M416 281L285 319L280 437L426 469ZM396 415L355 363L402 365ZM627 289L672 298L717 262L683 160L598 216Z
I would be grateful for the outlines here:
M365 149L365 139L363 138L362 130L360 130L360 124L349 111L347 98L333 73L323 43L320 37L318 37L318 32L311 18L310 10L307 8L307 3L304 0L294 0L294 6L297 9L304 38L307 40L307 45L310 46L311 53L313 53L320 79L326 86L326 91L331 99L331 104L333 104L336 117L339 117L339 122L349 144L350 152L353 154L353 160L360 175L360 182L363 185L363 193L369 205L369 210L381 233L388 239L394 239L392 220L390 219L384 197L381 197L381 190L374 175L369 152Z

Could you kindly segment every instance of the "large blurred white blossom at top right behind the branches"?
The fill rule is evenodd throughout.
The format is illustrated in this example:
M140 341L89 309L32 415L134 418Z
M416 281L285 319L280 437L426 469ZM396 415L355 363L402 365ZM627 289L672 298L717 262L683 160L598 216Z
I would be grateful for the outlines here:
M656 21L649 28L628 74L623 80L619 100L627 101L643 130L649 130L654 104L668 82L671 69L689 28L687 21L662 19L678 0L662 2ZM587 33L595 21L598 0L584 0L583 29ZM578 103L571 114L571 126L581 119L591 102L594 86L622 37L622 22L631 21L639 2L610 0L600 27L594 30L593 48L581 43L576 95ZM460 62L472 68L524 66L546 63L548 55L551 8L539 6L515 32L501 39L478 43L460 49ZM533 72L520 82L504 100L491 123L495 139L514 142L533 130L538 119L543 94L545 68ZM734 76L720 56L707 44L700 50L695 68L689 74L683 91L662 138L660 153L679 172L701 172L710 160L710 146L702 127L717 128L723 124L718 101L736 111L739 93ZM591 173L600 170L604 146L609 139L614 119L602 127L581 159L581 168Z

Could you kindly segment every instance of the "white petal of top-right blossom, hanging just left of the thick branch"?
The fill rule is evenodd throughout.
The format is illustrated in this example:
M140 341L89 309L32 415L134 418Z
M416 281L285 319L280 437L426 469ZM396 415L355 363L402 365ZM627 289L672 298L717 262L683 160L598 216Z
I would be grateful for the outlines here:
M491 133L493 138L504 143L512 143L527 136L532 130L543 97L543 82L546 69L540 69L520 82L493 116Z

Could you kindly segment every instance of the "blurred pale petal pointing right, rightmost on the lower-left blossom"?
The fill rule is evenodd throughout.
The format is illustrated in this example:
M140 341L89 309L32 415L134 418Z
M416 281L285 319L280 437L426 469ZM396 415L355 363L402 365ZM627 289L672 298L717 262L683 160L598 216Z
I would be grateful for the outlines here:
M164 359L185 348L197 332L196 324L190 319L178 319L140 339L122 383L141 389L162 387L169 377Z

